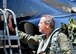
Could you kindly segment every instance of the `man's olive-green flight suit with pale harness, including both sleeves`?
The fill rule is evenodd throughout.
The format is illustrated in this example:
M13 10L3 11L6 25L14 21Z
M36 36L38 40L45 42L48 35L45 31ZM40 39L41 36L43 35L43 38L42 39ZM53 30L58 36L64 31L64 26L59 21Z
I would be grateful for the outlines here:
M53 33L45 39L43 36L40 38L40 35L31 36L19 31L19 37L24 43L28 43L30 37L35 38L39 42L37 54L72 54L69 38L61 32Z

